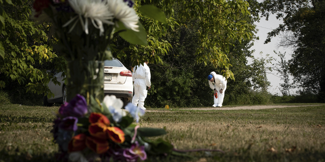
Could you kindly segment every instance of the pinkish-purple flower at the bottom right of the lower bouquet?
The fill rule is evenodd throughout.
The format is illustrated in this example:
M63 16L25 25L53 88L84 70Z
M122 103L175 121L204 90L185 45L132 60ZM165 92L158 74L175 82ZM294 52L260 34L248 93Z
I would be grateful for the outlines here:
M147 159L147 153L144 151L144 146L139 146L138 141L131 145L131 148L123 151L123 156L126 161L138 161Z

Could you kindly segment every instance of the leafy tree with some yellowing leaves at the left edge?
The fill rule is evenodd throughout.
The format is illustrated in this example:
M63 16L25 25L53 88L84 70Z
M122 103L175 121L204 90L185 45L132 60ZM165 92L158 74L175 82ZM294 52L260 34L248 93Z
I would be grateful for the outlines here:
M48 45L49 24L36 24L29 19L31 4L22 0L1 1L0 88L51 94L47 83L53 76L47 69L54 64L60 69L64 59Z

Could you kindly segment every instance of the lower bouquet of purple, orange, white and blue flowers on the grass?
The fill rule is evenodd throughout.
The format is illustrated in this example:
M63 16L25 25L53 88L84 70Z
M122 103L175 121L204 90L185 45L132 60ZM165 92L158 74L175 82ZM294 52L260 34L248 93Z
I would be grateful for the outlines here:
M144 110L123 102L115 96L106 96L103 103L87 105L85 98L76 95L64 103L56 113L53 130L61 158L71 161L138 161L147 153L173 152L173 145L162 139L151 141L146 137L166 134L164 129L140 128L138 123ZM127 113L126 113L127 112Z

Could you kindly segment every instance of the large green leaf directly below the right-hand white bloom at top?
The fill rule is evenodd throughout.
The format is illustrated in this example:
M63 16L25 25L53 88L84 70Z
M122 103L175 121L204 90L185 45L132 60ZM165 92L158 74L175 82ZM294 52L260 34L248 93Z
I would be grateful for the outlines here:
M148 45L147 32L145 31L145 29L143 28L140 22L138 22L139 30L140 30L139 32L125 28L123 23L120 21L117 22L117 24L119 27L116 28L116 31L119 31L118 34L123 39L125 39L125 41L134 45L144 45L144 46Z

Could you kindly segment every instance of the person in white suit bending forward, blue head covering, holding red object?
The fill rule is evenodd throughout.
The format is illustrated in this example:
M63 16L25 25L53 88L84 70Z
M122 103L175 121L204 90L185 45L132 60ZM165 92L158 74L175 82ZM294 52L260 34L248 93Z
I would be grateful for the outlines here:
M227 88L227 80L222 75L216 74L214 71L208 75L209 86L212 90L214 90L213 107L221 107L223 98L224 98L224 91Z

